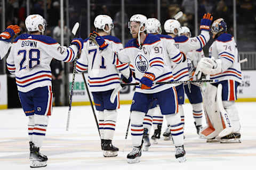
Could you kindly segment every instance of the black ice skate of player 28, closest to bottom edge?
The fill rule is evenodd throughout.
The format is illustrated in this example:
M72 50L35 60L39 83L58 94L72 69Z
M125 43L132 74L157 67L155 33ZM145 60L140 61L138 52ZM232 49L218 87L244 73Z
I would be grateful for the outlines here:
M47 165L47 156L39 152L39 148L33 147L33 152L30 154L30 167L44 167Z

